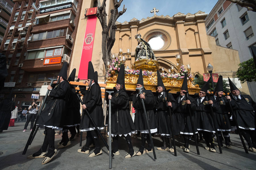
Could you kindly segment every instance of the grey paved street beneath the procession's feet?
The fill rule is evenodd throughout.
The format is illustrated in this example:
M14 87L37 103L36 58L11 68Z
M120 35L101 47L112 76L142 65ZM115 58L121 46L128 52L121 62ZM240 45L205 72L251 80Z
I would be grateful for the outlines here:
M42 165L43 158L27 159L28 154L38 151L43 143L44 135L40 130L36 134L34 141L29 146L26 155L22 155L24 146L30 135L30 131L22 132L25 122L15 123L15 127L9 127L7 131L0 133L0 169L108 169L109 159L106 147L102 148L103 154L94 158L89 158L86 154L77 152L79 149L79 138L71 142L67 148L58 149L58 154L47 164ZM30 127L30 124L28 125ZM107 140L108 138L106 138ZM61 140L61 135L55 136L55 146ZM83 135L85 143L86 136ZM134 156L130 159L124 159L124 155L128 151L125 138L119 138L119 156L114 156L112 169L255 169L256 153L249 152L246 154L241 145L239 135L231 134L231 141L234 143L232 149L222 148L223 154L217 152L212 153L205 150L204 143L199 144L200 155L196 154L196 148L191 142L189 153L183 152L177 147L177 157L173 153L167 151L156 150L161 146L162 142L159 137L154 137L153 142L156 150L157 159L153 159L153 153L144 154L142 156ZM132 137L135 151L141 144L141 138ZM183 138L176 138L176 145L183 143ZM101 142L103 146L103 142ZM57 147L56 147L57 148Z

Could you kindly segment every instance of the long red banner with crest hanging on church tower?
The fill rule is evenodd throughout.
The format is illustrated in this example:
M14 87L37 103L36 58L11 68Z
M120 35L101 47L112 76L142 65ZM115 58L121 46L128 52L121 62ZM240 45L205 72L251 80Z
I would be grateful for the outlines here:
M96 21L97 21L96 16L89 16L87 18L85 34L84 34L84 44L83 44L79 72L78 72L78 78L80 78L80 80L87 79L88 62L92 60L92 49L93 49L93 43L94 43Z

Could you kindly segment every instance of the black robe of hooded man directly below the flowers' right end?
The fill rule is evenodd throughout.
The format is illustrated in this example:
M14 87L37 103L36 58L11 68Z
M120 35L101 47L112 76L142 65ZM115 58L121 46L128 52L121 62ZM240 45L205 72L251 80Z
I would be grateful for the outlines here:
M175 111L175 116L179 124L180 133L185 135L193 135L193 129L192 129L192 124L189 117L189 111L187 110L186 96L184 96L182 101L180 101L180 99L181 99L181 96L179 95L176 98L177 108ZM197 127L196 127L195 117L193 112L196 109L195 100L191 96L188 96L188 100L190 100L191 102L191 104L189 105L189 108L190 108L192 120L194 122L194 128L195 128L194 130L195 130L195 133L197 133Z

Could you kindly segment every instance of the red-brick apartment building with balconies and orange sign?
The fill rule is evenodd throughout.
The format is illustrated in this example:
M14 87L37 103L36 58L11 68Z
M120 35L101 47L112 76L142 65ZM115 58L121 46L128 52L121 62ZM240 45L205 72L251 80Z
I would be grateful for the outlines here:
M14 88L16 106L42 101L42 85L56 78L63 61L72 60L81 1L13 0L14 7L0 46L9 75L1 96ZM40 105L40 104L39 104Z

